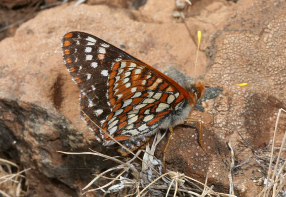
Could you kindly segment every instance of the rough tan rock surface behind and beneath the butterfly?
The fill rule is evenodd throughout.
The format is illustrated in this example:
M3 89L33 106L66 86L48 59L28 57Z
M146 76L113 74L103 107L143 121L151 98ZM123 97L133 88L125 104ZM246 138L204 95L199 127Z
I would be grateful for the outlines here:
M171 169L184 169L199 178L208 171L209 181L226 192L226 142L231 142L237 162L242 163L251 151L237 131L253 146L270 141L275 113L286 106L285 3L198 1L186 19L191 38L185 25L171 17L174 8L174 3L156 0L149 0L140 12L105 5L64 5L42 11L14 37L0 42L0 151L12 149L12 158L18 158L24 168L32 167L26 173L31 195L78 196L92 173L112 165L95 157L55 152L89 147L106 151L79 116L79 88L63 63L61 37L70 31L94 34L160 70L174 66L194 76L196 32L201 30L198 74L206 72L204 84L249 83L245 88L223 87L219 97L203 102L207 110L193 113L193 118L204 120L203 141L210 147L209 156L199 157L202 150L197 148L193 129L175 130L167 152ZM179 143L182 139L184 146ZM250 197L261 189L250 181L253 169L257 166L252 163L236 172L236 194Z

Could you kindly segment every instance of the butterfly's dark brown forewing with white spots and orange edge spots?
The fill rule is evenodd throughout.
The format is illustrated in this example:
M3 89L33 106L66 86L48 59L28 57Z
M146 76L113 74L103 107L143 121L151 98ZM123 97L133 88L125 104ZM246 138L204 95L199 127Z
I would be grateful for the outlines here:
M141 62L100 38L83 32L70 32L62 39L65 64L81 89L80 106L91 120L101 125L110 113L108 78L113 65L121 60ZM82 113L83 119L98 135L98 129ZM101 137L98 136L98 140Z

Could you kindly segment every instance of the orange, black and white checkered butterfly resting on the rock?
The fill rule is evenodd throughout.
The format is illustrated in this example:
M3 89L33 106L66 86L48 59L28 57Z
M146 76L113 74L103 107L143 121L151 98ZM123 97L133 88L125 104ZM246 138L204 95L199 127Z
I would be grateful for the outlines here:
M88 33L66 33L62 50L65 65L81 89L82 118L105 146L115 142L94 123L135 151L159 129L184 121L204 93L201 82L183 88L154 67ZM118 151L129 154L122 147Z

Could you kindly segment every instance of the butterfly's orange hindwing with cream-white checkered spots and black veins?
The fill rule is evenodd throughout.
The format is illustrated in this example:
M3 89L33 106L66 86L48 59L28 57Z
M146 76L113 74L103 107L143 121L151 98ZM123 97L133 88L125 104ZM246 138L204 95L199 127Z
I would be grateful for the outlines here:
M112 111L103 129L135 150L159 128L184 120L193 106L190 93L175 81L144 63L123 60L110 73ZM194 104L194 103L193 103ZM105 144L113 141L105 137ZM124 151L124 150L122 150ZM121 152L123 155L125 152Z

